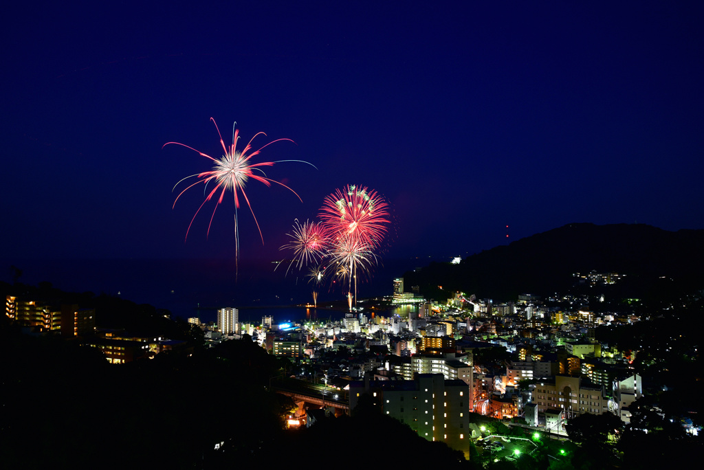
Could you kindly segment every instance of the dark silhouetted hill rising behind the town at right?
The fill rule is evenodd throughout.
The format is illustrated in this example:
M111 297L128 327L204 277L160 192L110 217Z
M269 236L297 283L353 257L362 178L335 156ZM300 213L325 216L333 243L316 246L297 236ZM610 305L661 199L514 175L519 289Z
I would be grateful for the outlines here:
M626 274L625 280L605 288L612 294L643 298L704 288L703 263L704 230L580 223L482 251L460 265L436 262L406 272L404 284L407 291L418 286L426 298L464 291L512 300L519 293L578 291L576 272L617 272Z

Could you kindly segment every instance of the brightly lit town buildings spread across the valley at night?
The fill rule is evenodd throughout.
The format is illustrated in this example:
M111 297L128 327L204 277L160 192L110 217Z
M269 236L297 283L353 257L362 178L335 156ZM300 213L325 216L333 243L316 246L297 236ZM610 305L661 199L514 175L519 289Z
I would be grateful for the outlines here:
M6 296L6 318L25 334L49 334L96 348L111 364L163 354L189 357L199 348L250 341L280 361L268 389L294 402L289 428L368 406L426 440L462 452L465 459L471 459L472 449L515 459L511 452L531 452L530 445L507 449L500 442L505 436L486 426L501 423L555 439L570 438L570 423L584 415L615 417L620 426L629 426L634 414L643 413L639 404L649 394L676 386L658 374L658 364L667 361L675 345L690 348L675 338L660 350L657 341L636 345L635 337L625 341L599 334L655 319L639 315L639 299L621 300L618 308L605 301L599 287L617 283L619 274L575 273L574 278L594 293L548 298L526 293L494 301L456 292L438 303L397 278L391 295L360 300L345 312L333 310L337 319L317 319L318 312L331 311L308 305L301 308L306 319L299 322L265 315L255 324L240 322L238 309L227 307L218 310L215 322L197 317L182 322L190 337L176 339L165 331L147 335L102 327L94 308L11 295ZM590 308L594 305L598 308ZM696 348L677 352L698 354ZM665 419L658 402L646 407ZM667 419L697 436L700 426L693 416L684 409Z

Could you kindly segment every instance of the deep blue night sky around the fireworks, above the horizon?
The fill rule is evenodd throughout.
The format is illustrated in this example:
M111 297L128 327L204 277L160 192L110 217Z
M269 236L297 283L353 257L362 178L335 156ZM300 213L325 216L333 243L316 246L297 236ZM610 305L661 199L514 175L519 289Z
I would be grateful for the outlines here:
M394 205L389 257L474 253L506 224L704 229L700 2L198 3L5 15L4 258L232 258L231 199L187 243L202 191L171 208L208 161L161 148L219 156L210 117L318 167L267 172L303 203L248 185L265 245L241 210L244 258L280 258L345 184Z

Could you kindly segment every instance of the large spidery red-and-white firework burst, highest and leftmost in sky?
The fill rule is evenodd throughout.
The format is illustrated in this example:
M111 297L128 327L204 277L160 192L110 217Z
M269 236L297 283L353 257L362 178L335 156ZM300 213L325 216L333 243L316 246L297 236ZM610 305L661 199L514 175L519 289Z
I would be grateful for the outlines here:
M273 179L269 179L266 177L266 174L263 172L262 167L270 167L274 165L275 163L282 163L282 162L300 162L300 163L308 163L303 160L277 160L274 162L260 162L260 163L252 163L251 158L258 155L260 151L262 151L263 148L270 146L271 144L274 144L275 142L279 141L289 141L293 142L291 139L276 139L274 141L270 141L268 144L265 144L261 146L258 150L253 151L249 153L252 149L252 141L260 134L266 136L264 132L258 132L255 134L249 141L249 143L244 146L244 148L239 151L237 150L237 141L239 140L239 129L235 129L235 125L237 125L237 122L232 125L232 145L231 146L225 146L225 142L222 141L222 134L220 134L220 129L218 129L218 124L215 122L213 118L210 118L211 121L213 121L213 124L215 125L215 129L218 130L218 136L220 136L220 146L222 146L222 152L224 155L222 155L220 158L213 158L210 155L207 155L206 153L203 153L201 151L196 150L193 147L187 146L185 144L180 144L179 142L167 142L162 146L165 147L169 144L175 144L175 145L180 145L186 148L191 149L192 151L198 152L199 155L208 158L211 160L213 163L213 169L210 171L206 172L201 172L201 173L196 173L196 174L191 174L190 176L185 177L182 179L180 182L177 182L174 186L174 190L176 187L184 182L185 180L196 177L198 178L198 181L195 183L189 184L183 191L179 193L178 196L176 196L176 199L173 204L173 208L176 207L176 202L179 200L179 198L182 196L183 193L191 189L193 186L196 186L197 184L203 184L204 185L204 191L206 191L206 198L203 203L201 203L200 207L198 210L196 210L196 213L194 214L193 218L191 218L191 223L188 225L188 229L186 230L186 239L188 239L188 234L189 231L191 230L191 225L193 225L193 221L196 220L196 216L198 215L198 212L201 211L203 208L203 205L206 204L206 202L210 201L213 199L213 197L216 199L215 203L215 208L213 208L213 214L210 215L210 222L208 223L208 232L206 236L210 234L210 226L213 224L213 217L215 217L215 211L218 210L218 205L222 204L222 200L225 198L225 193L227 191L232 191L232 196L234 198L234 239L235 239L235 258L236 262L239 261L239 223L237 220L237 210L239 209L240 201L241 198L244 198L244 202L246 203L247 207L249 208L249 211L252 214L252 217L254 218L254 222L257 226L257 229L259 231L259 236L262 239L262 243L264 243L264 236L262 235L261 228L259 227L259 222L257 220L256 215L254 215L254 211L252 210L251 203L249 201L249 198L247 197L246 192L244 191L244 187L246 186L246 183L249 181L249 179L254 179L255 181L258 181L260 183L265 184L266 186L271 186L272 183L279 184L279 186L284 186L284 188L288 189L292 193L296 195L298 200L301 200L301 197L298 196L296 191L293 189L289 188L289 186L286 186L285 184L279 183ZM295 142L294 142L295 144ZM315 167L315 165L312 165L308 163L308 165ZM214 187L210 192L207 191L208 189L208 184L213 183ZM172 190L173 191L173 190ZM241 196L240 196L241 193ZM303 201L301 201L303 202Z

